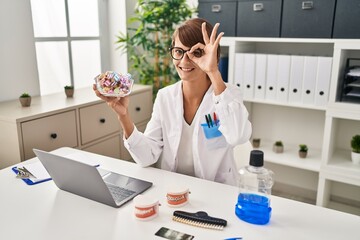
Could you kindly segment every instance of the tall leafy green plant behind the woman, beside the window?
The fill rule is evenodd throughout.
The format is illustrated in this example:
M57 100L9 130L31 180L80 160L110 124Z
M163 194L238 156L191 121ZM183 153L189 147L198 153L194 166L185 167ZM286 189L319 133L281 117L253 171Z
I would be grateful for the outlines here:
M179 80L171 66L168 49L178 24L196 12L186 0L138 0L135 15L128 19L127 34L120 33L116 43L127 52L129 72L141 84L153 85L157 91Z

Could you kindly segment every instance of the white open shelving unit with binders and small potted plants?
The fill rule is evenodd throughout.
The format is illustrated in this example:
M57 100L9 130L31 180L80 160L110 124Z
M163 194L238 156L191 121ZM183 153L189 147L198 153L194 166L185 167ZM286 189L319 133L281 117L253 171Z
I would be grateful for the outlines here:
M310 75L321 79L317 80L318 84L306 82L299 85L299 89L303 88L300 101L295 100L298 98L295 95L289 98L291 87L286 100L270 96L270 90L263 86L266 88L265 97L244 94L244 102L253 124L252 137L261 138L260 150L264 151L267 167L275 172L275 193L360 215L360 166L354 165L350 158L351 137L360 134L360 104L339 102L346 60L360 58L360 40L224 37L221 46L229 57L228 82L242 89L246 88L241 86L246 79L240 73L243 66L237 60L241 60L242 54L265 54L270 63L274 56L303 58L297 62L307 64L311 69L316 61L319 69L331 66L328 74L325 70L314 72L314 69L303 72L304 76L309 76L306 79L299 76L301 71L293 69L299 72L297 74L290 71L289 86L299 85L296 77L303 81ZM307 60L313 63L307 63ZM282 71L286 64L279 66L277 61L275 65L277 71ZM269 66L272 65L267 65L267 77L276 74ZM292 76L294 84L291 83ZM324 78L328 79L327 82L323 81ZM312 89L306 89L309 87ZM272 151L277 140L284 143L282 154ZM299 144L309 147L305 159L298 156Z

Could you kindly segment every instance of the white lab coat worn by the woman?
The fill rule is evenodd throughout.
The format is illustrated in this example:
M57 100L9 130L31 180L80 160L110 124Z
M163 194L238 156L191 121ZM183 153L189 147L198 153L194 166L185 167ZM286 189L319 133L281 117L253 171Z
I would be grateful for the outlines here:
M206 114L213 116L214 112L220 120L222 136L207 139L201 123L206 123ZM136 163L146 167L160 160L162 169L176 171L183 113L182 81L158 92L145 132L135 127L129 138L124 139ZM233 147L248 141L252 132L239 88L227 84L225 91L215 96L211 85L193 121L195 128L189 141L193 145L195 176L235 185L237 169Z

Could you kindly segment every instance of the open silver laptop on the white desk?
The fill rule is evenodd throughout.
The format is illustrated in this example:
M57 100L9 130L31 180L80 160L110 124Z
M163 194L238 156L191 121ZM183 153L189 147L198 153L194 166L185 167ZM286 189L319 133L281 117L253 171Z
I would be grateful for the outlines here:
M33 149L61 190L120 207L152 186L151 182L98 169L83 162Z

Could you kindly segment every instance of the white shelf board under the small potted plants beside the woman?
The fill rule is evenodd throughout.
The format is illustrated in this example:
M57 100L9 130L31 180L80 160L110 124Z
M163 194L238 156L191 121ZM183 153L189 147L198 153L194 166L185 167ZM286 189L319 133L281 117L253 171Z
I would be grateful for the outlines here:
M298 169L319 172L321 165L321 151L320 149L309 148L307 158L300 158L298 156L299 147L296 145L284 144L283 153L275 153L272 150L275 141L263 141L259 150L264 152L264 159L267 162L279 165L294 167Z

